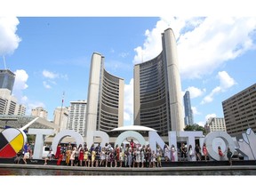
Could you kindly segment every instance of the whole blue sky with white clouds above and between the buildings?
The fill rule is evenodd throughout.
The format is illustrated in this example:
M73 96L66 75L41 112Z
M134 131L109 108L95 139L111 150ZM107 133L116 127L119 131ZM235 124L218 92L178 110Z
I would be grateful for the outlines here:
M124 78L128 125L133 66L162 51L166 28L177 39L182 92L190 91L195 123L223 117L221 102L255 84L256 17L6 17L0 66L4 56L28 115L42 106L52 120L63 92L64 106L87 99L92 52L100 52L108 72Z

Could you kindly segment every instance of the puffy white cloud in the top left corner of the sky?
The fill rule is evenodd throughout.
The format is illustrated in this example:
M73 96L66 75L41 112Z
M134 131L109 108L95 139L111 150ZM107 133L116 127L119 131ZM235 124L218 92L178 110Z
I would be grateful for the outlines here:
M20 21L17 18L0 18L0 55L12 54L21 41L16 34Z

